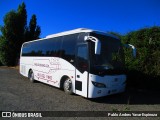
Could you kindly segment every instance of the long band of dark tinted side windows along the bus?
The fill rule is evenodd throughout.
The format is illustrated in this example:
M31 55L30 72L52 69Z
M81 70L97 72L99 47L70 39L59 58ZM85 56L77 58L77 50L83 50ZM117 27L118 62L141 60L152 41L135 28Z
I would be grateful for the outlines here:
M30 42L23 45L22 56L62 57L74 62L78 34Z

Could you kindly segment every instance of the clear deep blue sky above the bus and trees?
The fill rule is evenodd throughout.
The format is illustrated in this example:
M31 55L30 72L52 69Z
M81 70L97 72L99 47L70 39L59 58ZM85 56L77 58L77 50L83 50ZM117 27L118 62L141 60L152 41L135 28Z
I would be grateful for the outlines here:
M28 23L36 14L41 38L76 28L126 34L160 26L160 0L0 0L0 25L5 14L22 2Z

